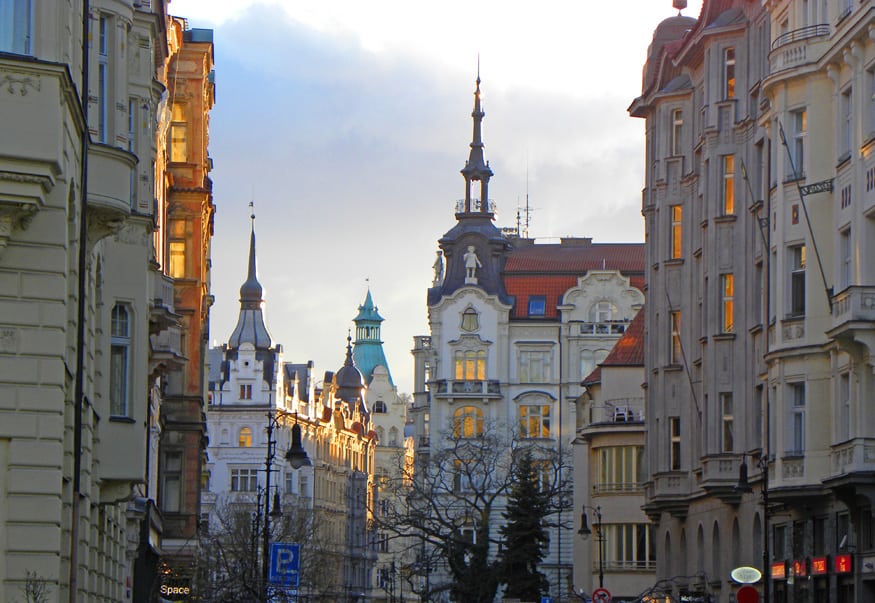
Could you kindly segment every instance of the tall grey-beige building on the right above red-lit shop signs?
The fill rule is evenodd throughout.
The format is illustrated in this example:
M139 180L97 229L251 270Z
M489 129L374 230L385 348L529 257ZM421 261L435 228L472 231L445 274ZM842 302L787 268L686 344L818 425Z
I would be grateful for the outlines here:
M658 577L696 576L675 590L728 601L753 565L773 601L875 596L873 15L706 0L654 34L630 112L647 122L646 509Z

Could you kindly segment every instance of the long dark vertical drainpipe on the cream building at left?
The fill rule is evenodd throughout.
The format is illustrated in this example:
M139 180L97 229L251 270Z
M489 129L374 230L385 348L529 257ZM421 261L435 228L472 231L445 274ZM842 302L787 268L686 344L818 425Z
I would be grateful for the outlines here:
M85 407L85 290L88 279L85 270L88 266L88 146L91 134L88 131L88 34L90 30L91 6L89 0L82 0L82 93L80 105L85 130L82 132L80 153L81 170L79 188L81 209L79 216L79 258L78 258L78 308L76 316L76 382L73 400L73 499L70 505L70 603L76 603L79 565L79 513L82 490L82 411Z

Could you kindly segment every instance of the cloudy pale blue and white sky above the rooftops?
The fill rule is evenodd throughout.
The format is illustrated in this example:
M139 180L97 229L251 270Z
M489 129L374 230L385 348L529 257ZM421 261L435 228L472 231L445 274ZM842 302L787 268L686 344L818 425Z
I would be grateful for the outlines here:
M700 9L689 0L683 14ZM671 0L169 10L212 29L215 45L211 345L237 322L252 201L267 327L285 360L313 360L317 380L339 369L370 288L393 380L413 391L437 241L465 192L478 64L496 225L515 227L528 199L536 241L644 239L644 122L626 109Z

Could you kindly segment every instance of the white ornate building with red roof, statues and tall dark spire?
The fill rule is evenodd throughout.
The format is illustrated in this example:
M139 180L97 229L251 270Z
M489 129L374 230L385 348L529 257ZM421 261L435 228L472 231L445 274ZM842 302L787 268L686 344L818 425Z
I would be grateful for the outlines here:
M465 198L456 206L456 224L439 241L428 291L430 333L414 338L416 452L433 455L452 445L453 436L478 438L488 430L508 449L555 451L569 468L581 381L644 303L643 245L589 238L539 244L498 229L488 196L493 173L483 153L479 85L478 78L473 140L462 170ZM570 481L570 469L562 473L554 476L557 483ZM456 488L464 491L464 480ZM491 512L493 535L504 504L502 498ZM553 518L565 527L550 530L540 567L550 584L544 595L556 600L569 596L572 582L574 532L567 526L576 514L565 513ZM434 589L439 575L431 578Z

